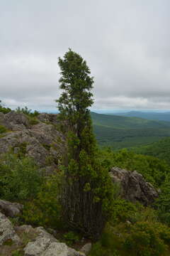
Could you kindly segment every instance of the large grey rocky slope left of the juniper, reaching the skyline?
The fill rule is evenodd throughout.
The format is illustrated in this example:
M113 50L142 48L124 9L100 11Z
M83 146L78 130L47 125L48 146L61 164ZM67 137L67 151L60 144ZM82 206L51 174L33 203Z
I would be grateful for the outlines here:
M30 124L25 114L0 113L0 124L8 129L0 137L0 154L23 151L40 167L47 167L48 171L57 168L64 151L64 137L56 128L57 114L40 114L37 122Z

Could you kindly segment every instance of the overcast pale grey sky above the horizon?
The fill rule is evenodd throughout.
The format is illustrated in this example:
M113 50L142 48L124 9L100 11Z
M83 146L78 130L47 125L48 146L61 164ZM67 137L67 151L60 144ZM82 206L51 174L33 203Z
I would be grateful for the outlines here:
M169 0L0 1L0 98L55 110L68 48L94 76L94 109L170 109Z

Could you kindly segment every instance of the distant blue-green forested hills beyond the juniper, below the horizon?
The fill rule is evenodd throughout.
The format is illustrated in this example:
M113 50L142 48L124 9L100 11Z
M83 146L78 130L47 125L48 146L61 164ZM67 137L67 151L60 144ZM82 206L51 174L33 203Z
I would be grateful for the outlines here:
M131 148L170 136L170 122L91 113L94 133L100 145L113 149Z

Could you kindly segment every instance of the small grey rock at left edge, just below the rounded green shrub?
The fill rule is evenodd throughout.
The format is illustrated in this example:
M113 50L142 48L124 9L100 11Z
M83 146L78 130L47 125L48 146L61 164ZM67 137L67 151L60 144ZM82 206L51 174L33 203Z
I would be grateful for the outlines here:
M5 200L0 200L0 212L8 217L16 217L23 210L21 203L10 203Z

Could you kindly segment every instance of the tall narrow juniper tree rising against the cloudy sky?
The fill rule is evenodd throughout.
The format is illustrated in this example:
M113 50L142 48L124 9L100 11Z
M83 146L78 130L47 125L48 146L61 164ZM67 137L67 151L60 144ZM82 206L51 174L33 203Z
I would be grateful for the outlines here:
M88 109L94 102L91 93L94 78L86 61L71 49L58 63L62 94L56 102L64 124L62 132L67 137L63 216L69 227L98 238L106 222L112 188L108 173L97 161Z

